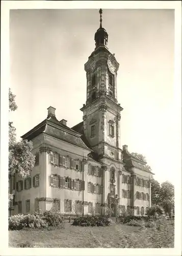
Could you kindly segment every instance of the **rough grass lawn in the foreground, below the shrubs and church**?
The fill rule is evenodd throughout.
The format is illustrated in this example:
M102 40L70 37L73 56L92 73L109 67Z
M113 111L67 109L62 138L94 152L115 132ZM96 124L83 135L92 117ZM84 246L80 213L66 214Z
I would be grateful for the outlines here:
M161 230L113 223L108 227L79 227L65 223L64 229L9 231L9 246L29 242L34 247L79 248L172 248L174 225Z

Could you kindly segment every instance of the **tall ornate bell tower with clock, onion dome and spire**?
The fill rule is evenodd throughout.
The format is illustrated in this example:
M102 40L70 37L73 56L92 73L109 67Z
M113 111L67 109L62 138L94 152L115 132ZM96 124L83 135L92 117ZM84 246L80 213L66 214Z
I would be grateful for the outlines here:
M119 63L108 49L108 33L100 26L95 33L95 49L85 63L87 99L83 105L84 133L99 160L109 157L121 160L120 112L117 102Z

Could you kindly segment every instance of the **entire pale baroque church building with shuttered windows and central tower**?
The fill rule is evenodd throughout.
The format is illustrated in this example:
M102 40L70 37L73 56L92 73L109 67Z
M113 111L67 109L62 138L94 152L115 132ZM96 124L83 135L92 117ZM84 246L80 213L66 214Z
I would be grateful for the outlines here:
M119 63L108 49L99 13L95 49L85 63L83 121L70 128L49 106L47 117L21 137L34 143L36 162L30 178L11 177L10 215L54 208L63 215L118 217L124 210L144 215L151 206L153 174L146 162L129 154L127 145L121 148Z

